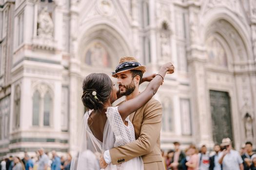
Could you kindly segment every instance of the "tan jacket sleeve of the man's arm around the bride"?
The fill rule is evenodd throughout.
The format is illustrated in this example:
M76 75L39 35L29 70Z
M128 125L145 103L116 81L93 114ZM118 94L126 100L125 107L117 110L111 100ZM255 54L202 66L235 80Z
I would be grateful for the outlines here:
M157 100L150 100L140 110L144 112L140 136L131 143L109 150L114 165L148 154L156 147L160 137L162 106Z

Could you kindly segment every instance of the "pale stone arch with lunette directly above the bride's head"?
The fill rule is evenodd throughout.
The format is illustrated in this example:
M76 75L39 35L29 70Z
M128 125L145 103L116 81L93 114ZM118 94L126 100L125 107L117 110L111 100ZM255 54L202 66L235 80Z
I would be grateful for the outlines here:
M100 48L98 48L98 50L97 48L90 49L92 48L92 46L95 46L97 44L100 45ZM80 36L79 38L78 56L82 63L82 69L90 69L88 63L86 64L85 62L86 55L88 57L87 52L90 50L95 50L93 51L93 55L94 57L99 58L99 60L96 62L104 62L106 61L106 59L110 60L109 62L105 63L106 67L103 68L100 67L98 63L98 68L100 68L101 70L106 68L113 70L118 63L118 59L121 56L131 54L130 47L127 44L128 43L123 38L123 36L119 34L117 29L109 24L99 23L97 25L94 25L93 27L88 28L88 30L85 30L82 36ZM93 67L93 65L91 67ZM94 68L97 67L95 67L94 65Z

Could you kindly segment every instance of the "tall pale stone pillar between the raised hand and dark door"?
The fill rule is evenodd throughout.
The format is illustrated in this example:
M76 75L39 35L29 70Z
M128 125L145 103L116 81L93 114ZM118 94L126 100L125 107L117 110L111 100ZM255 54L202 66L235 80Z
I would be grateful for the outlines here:
M188 68L191 77L191 90L193 96L192 105L192 126L195 143L211 145L212 128L210 126L211 113L207 106L209 105L209 92L206 84L206 52L203 50L203 42L199 38L199 8L200 6L193 1L189 4L189 35L190 47L188 51Z

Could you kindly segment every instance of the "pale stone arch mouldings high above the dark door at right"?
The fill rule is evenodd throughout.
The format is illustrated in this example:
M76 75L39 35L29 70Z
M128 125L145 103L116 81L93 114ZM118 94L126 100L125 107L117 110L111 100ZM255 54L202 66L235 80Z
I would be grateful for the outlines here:
M250 27L244 24L232 11L226 10L225 8L213 8L204 11L201 13L199 29L202 40L205 41L209 33L218 32L230 43L231 49L236 49L237 46L237 44L232 45L234 39L237 42L240 41L238 44L243 48L243 55L245 55L247 60L252 59L253 51L251 49ZM229 31L233 32L236 37L232 38L232 36L226 34Z

